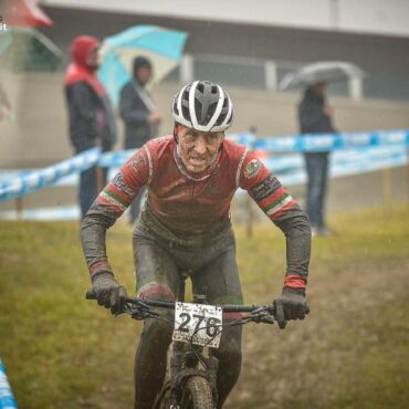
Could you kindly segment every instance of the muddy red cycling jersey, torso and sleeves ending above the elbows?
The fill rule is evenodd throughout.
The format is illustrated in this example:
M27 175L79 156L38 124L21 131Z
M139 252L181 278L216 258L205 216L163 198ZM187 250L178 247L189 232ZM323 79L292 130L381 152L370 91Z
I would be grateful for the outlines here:
M119 169L97 202L120 216L145 185L150 211L170 230L190 233L203 233L227 217L238 188L248 190L272 220L296 206L244 146L224 140L210 169L189 175L175 145L172 136L148 141Z

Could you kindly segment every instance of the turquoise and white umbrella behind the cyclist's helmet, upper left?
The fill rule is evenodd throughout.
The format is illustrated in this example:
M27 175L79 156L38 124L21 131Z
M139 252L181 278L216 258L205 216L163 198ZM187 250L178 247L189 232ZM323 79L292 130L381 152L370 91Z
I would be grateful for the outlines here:
M180 61L187 33L158 25L134 25L104 40L101 46L98 77L114 105L123 85L132 77L132 62L137 55L150 60L154 82L158 83ZM153 83L148 84L148 87Z

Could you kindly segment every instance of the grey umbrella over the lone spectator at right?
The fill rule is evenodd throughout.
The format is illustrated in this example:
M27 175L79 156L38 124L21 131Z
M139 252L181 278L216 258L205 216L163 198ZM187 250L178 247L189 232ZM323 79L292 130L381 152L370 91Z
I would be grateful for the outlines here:
M290 90L317 83L333 83L364 75L364 71L355 64L344 61L322 61L286 74L280 82L279 88Z

